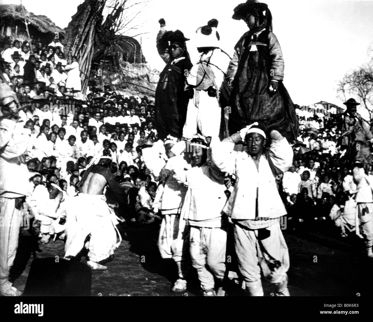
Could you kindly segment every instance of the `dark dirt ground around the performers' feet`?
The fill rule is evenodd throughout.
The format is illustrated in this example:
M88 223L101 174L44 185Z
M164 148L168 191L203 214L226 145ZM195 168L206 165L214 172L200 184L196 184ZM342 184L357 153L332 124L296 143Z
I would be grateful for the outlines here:
M160 258L157 249L159 223L137 227L120 227L123 241L115 251L115 259L107 264L107 271L92 272L92 296L201 296L197 273L191 268L188 291L170 292L176 280L176 266L172 260ZM349 237L329 237L319 233L297 235L283 231L290 254L289 291L292 296L357 296L372 289L373 260L366 258L361 240ZM62 240L37 244L28 234L20 237L18 253L11 276L14 286L23 291L32 260L63 257ZM233 253L233 256L230 255ZM234 248L227 249L234 258ZM316 257L315 257L316 256ZM86 261L83 257L82 261ZM232 264L230 267L232 267ZM263 282L264 293L270 296L273 287ZM228 294L242 295L241 288L230 282ZM273 294L272 294L273 295Z

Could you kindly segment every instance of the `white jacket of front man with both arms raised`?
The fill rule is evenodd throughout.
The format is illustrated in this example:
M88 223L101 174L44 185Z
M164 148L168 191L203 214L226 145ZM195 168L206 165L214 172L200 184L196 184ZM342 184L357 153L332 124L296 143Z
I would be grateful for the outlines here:
M273 140L270 148L264 149L259 172L250 155L233 151L234 143L212 138L210 146L213 163L222 171L236 174L233 193L223 209L229 217L240 220L256 218L257 188L258 217L277 218L286 214L272 172L284 173L291 167L293 151L285 138Z

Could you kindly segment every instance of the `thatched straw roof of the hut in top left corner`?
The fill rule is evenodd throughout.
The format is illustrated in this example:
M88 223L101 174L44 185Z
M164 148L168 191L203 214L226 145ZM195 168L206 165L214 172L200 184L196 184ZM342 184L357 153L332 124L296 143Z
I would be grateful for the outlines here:
M1 20L9 21L10 23L12 23L12 21L22 23L24 26L25 16L29 26L31 25L39 32L44 34L55 34L56 32L59 32L61 35L65 35L65 31L59 26L56 26L47 16L38 16L32 12L28 12L21 4L0 4Z

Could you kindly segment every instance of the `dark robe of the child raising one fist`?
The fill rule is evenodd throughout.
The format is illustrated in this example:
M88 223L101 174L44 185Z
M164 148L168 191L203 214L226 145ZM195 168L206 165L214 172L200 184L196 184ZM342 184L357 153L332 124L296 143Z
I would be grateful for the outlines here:
M160 74L155 98L155 126L161 140L167 135L175 138L182 136L189 100L184 93L184 85L191 67L188 59L175 64L169 61Z

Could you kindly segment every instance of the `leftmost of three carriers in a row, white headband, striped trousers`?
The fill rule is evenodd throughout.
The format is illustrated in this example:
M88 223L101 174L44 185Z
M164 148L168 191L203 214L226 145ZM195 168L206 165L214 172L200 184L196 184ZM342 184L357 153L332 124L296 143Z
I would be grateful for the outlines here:
M158 141L162 142L162 141ZM157 190L154 203L162 214L162 224L159 231L158 248L162 258L172 258L178 267L178 279L173 284L173 293L186 291L186 276L189 268L189 234L186 221L181 216L185 199L186 187L179 183L170 173L175 168L190 168L184 159L185 142L177 142L168 137L164 141L167 161L159 158L159 144L142 149L142 156L148 168L154 169L156 176L162 177L163 184ZM162 146L163 147L163 146ZM163 167L161 166L163 165ZM159 168L162 167L160 170ZM157 170L156 170L157 169Z

